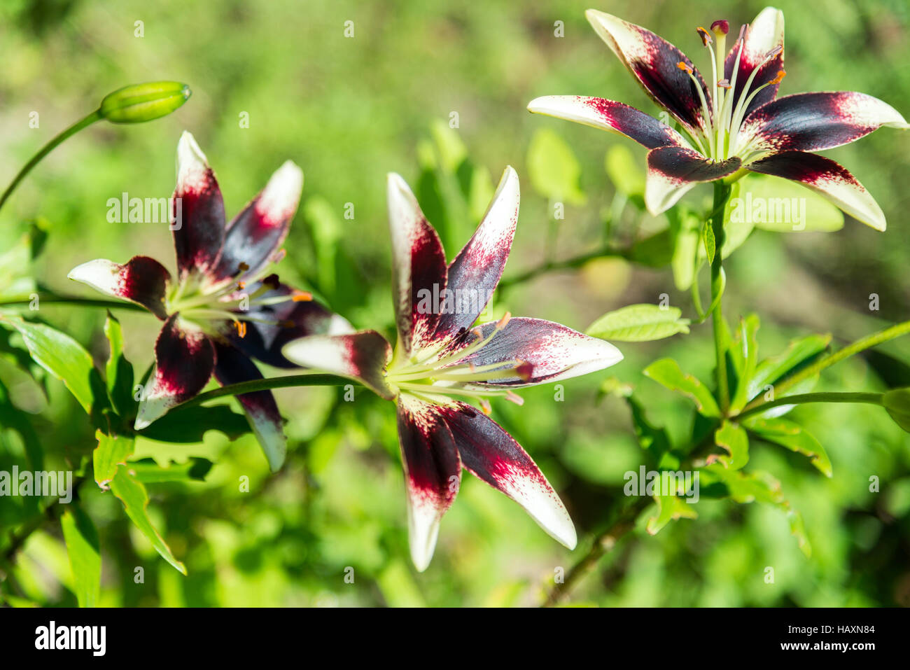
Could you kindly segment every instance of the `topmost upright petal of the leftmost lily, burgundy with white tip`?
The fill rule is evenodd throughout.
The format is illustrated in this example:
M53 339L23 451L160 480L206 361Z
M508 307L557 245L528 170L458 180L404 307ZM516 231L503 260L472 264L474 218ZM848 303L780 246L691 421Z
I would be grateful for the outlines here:
M210 275L225 239L225 204L215 173L196 139L184 131L177 143L174 246L180 276Z

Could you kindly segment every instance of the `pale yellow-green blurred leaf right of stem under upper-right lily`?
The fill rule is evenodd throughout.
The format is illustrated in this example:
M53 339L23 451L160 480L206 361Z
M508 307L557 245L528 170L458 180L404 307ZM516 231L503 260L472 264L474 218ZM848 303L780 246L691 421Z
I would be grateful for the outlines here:
M774 232L833 232L844 213L814 191L789 179L751 174L731 198L730 220Z

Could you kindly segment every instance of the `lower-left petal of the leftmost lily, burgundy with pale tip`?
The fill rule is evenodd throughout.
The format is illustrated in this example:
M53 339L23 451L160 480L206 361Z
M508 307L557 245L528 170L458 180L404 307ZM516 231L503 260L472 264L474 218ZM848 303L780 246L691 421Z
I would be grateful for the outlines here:
M152 388L139 402L136 431L202 391L215 369L211 340L197 330L184 330L177 318L173 314L158 334Z

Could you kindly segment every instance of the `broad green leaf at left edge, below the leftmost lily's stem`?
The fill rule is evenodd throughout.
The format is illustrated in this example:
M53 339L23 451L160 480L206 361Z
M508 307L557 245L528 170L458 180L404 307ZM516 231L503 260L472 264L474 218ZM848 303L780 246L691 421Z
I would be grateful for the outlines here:
M43 323L25 321L19 317L3 321L19 331L32 359L63 381L82 408L91 413L95 401L92 378L97 379L98 373L88 351L66 333Z

